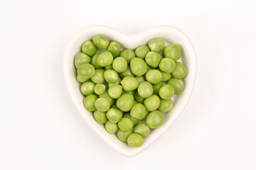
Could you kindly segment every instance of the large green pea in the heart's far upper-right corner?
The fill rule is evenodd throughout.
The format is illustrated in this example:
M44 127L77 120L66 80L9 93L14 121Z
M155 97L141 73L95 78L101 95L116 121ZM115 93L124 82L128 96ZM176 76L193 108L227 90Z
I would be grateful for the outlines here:
M164 47L164 57L169 57L176 62L181 58L181 47L179 45L167 45Z

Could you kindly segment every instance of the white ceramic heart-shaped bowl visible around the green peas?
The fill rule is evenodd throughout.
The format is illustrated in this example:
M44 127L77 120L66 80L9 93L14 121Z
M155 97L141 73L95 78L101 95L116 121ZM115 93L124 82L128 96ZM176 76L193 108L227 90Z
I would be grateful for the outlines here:
M159 128L151 130L151 134L145 138L142 147L129 147L127 143L118 140L116 135L110 134L105 130L104 125L97 123L93 118L92 113L87 111L83 106L83 99L85 96L80 93L80 83L76 80L74 57L80 52L82 43L86 40L92 40L93 36L97 34L106 35L110 40L117 40L123 48L133 50L139 47L139 45L146 45L152 38L163 38L166 45L173 43L181 45L181 60L188 70L188 75L183 79L185 82L185 89L181 94L172 98L174 107L169 113L164 113L164 124ZM196 79L196 52L193 45L181 30L172 26L157 26L133 35L120 33L119 31L106 26L89 26L80 30L80 32L75 34L68 42L64 51L63 64L68 91L82 117L102 140L105 140L110 146L127 157L133 157L149 147L149 145L159 138L171 124L174 123L176 118L178 118L178 115L183 111L186 103L188 103Z

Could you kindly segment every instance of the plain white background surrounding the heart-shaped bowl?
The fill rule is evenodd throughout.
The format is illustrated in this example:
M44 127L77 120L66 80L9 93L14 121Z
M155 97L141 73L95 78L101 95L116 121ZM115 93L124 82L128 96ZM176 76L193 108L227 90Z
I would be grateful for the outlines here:
M0 0L0 169L256 169L255 1ZM93 24L191 38L198 77L174 125L136 157L90 130L63 78L63 49Z

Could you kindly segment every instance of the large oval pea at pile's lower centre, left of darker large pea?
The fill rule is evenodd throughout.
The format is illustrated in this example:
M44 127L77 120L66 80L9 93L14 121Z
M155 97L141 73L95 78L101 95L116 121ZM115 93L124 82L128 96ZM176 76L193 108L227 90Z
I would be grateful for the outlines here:
M134 96L132 94L122 94L117 99L117 107L124 112L130 111L134 103Z

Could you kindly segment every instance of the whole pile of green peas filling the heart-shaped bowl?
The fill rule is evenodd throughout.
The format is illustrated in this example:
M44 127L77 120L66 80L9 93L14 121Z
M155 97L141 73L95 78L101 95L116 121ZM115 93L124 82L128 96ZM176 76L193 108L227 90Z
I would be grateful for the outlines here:
M107 132L141 147L151 130L164 123L163 113L173 108L171 98L184 89L181 47L154 38L136 50L122 49L99 34L81 48L74 63L85 108Z

